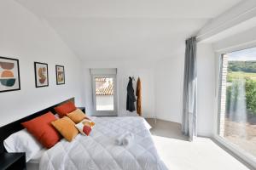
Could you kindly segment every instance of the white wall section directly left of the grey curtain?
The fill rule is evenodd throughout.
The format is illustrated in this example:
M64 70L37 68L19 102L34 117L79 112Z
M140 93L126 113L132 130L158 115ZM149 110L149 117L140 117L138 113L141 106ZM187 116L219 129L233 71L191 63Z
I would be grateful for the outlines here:
M155 111L159 119L182 121L184 54L161 59L155 66Z

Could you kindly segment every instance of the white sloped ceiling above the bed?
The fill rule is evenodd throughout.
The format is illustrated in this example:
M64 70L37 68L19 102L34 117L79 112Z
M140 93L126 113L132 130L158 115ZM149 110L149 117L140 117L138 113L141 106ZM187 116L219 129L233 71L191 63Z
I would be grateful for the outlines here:
M81 59L161 59L241 0L15 0Z

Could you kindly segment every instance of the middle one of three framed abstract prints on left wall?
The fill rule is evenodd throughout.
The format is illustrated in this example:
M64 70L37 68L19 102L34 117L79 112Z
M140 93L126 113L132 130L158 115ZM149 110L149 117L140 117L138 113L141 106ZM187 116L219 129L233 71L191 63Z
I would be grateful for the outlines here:
M36 88L49 86L48 65L46 63L34 63Z

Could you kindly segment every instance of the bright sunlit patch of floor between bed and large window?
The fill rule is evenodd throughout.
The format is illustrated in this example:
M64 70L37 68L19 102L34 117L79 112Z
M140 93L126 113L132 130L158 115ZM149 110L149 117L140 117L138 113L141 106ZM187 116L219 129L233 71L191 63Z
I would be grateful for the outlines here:
M153 135L161 159L171 170L248 170L207 138L194 142Z

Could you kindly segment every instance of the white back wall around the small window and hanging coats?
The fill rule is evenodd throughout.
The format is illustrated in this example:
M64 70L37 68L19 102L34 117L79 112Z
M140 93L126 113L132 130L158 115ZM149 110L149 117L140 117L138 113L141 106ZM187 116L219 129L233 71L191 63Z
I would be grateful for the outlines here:
M128 77L141 78L142 81L142 105L143 116L154 116L154 66L147 61L86 61L84 66L84 82L85 82L85 103L86 113L91 114L93 111L92 104L92 88L90 81L90 68L117 68L117 84L118 84L118 114L119 116L135 116L137 112L126 111L126 88L129 81ZM136 82L133 88L136 90ZM135 103L136 104L136 103Z

